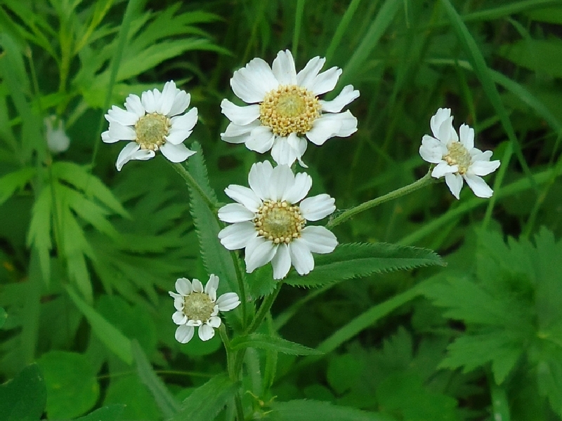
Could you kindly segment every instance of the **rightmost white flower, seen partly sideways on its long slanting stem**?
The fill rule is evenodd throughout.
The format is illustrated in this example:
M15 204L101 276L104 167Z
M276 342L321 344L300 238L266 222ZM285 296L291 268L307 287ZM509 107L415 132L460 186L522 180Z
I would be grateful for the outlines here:
M459 199L463 180L478 197L490 197L494 193L481 178L497 170L499 161L490 161L492 151L482 152L474 147L474 129L462 124L459 135L452 126L451 110L440 108L431 117L433 136L424 135L419 154L430 163L436 163L431 176L441 178L453 196Z

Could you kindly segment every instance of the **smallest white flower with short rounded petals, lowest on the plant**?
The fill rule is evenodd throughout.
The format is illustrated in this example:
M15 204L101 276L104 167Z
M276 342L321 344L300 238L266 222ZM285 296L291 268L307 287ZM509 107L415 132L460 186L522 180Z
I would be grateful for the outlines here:
M176 307L176 312L172 314L171 318L178 325L176 329L178 342L188 343L193 338L197 326L201 340L213 338L214 329L221 326L218 312L228 312L240 305L236 293L226 293L217 299L217 288L218 276L214 274L209 276L205 288L199 279L189 281L189 279L180 278L176 281L178 293L170 291L169 295L174 298L174 307Z

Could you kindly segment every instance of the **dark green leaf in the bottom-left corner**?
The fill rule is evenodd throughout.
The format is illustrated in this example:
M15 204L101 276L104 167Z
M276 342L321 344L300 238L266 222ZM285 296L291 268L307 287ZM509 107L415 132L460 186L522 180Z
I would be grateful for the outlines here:
M0 420L36 421L45 410L47 391L37 364L0 385Z

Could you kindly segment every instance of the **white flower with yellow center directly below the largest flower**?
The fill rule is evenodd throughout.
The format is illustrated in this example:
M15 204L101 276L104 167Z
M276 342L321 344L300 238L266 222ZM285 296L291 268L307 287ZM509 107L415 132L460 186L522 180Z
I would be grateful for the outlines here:
M274 279L287 276L291 265L305 275L314 269L311 252L330 253L336 248L336 236L328 229L305 226L336 210L327 194L304 199L312 187L310 175L293 175L289 166L273 168L265 161L251 166L248 182L250 188L228 186L226 194L237 203L218 210L220 220L233 224L218 238L228 250L246 249L248 273L271 262Z

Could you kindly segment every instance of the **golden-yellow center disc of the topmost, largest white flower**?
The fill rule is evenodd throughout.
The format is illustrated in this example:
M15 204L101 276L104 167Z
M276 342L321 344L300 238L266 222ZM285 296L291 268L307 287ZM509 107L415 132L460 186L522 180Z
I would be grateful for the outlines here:
M306 88L296 85L281 85L266 93L259 105L259 119L277 136L291 133L304 135L312 123L320 117L322 105L318 97Z

